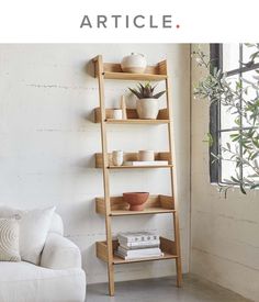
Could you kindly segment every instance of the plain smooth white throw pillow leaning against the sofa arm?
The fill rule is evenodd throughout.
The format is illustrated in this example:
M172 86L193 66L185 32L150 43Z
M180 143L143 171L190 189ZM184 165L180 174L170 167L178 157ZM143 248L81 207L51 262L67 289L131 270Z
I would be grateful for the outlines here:
M20 226L20 255L22 260L40 265L41 253L50 227L55 206L20 212L15 215Z

